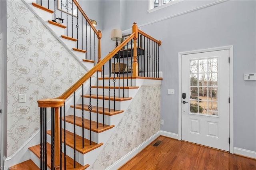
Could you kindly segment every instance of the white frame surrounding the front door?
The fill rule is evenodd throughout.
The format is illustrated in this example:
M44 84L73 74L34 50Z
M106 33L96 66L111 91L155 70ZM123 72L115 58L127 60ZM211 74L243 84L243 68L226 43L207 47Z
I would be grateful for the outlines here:
M214 47L214 48L208 48L208 49L198 49L193 51L184 51L178 53L178 140L181 140L181 56L185 54L193 54L193 53L203 53L203 52L210 52L210 51L219 51L219 50L229 50L229 57L230 57L230 63L229 63L229 97L230 97L230 103L229 103L229 137L230 137L230 144L229 144L229 152L234 153L234 81L233 81L233 45L224 46L224 47Z

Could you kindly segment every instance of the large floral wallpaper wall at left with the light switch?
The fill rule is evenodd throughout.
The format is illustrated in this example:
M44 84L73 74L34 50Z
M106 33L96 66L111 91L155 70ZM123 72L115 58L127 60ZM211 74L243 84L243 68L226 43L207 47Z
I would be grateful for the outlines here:
M86 71L20 0L7 1L7 26L10 156L39 130L37 100L58 97Z

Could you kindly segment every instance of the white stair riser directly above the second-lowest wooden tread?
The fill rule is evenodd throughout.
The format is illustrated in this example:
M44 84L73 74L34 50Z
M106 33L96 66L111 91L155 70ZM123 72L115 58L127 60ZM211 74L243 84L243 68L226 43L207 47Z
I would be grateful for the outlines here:
M110 135L110 134L108 134ZM47 142L51 144L51 136L47 135ZM78 162L81 165L86 165L89 164L90 161L95 160L96 157L98 156L98 153L100 152L100 150L102 146L91 150L90 152L87 152L85 154L82 154L80 152L78 152L76 150L76 162ZM62 142L62 152L64 152L64 143ZM74 159L74 148L66 145L66 155L68 155L70 158ZM93 158L92 160L90 160L91 158ZM90 162L91 164L93 162ZM90 165L90 164L89 164ZM40 166L40 162L39 162L39 166Z

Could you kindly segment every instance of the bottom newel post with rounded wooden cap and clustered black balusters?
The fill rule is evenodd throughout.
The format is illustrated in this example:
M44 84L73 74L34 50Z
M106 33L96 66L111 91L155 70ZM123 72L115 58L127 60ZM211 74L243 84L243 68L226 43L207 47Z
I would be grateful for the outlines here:
M64 99L42 99L37 101L38 103L38 107L40 107L41 110L41 117L46 118L46 110L47 108L52 108L54 109L54 112L52 112L52 120L54 120L54 123L52 123L52 125L54 125L54 127L52 128L52 132L54 129L54 134L51 134L52 136L54 136L54 138L52 138L54 141L52 143L52 149L54 150L54 158L52 158L51 160L54 159L54 168L56 170L60 170L60 108L62 106L64 106L65 100ZM41 118L42 120L42 118ZM46 127L46 122L47 119L45 119L43 122L41 122L41 156L43 158L46 158L47 152L46 153L42 153L43 151L46 151L46 131L47 131L47 127ZM42 125L44 124L44 125ZM44 127L44 128L42 128ZM43 148L43 149L42 149ZM48 151L49 152L49 151ZM42 160L42 158L41 158ZM44 163L46 163L46 160L44 160ZM41 162L41 166L44 164ZM46 167L46 166L45 166ZM42 167L41 167L42 168Z

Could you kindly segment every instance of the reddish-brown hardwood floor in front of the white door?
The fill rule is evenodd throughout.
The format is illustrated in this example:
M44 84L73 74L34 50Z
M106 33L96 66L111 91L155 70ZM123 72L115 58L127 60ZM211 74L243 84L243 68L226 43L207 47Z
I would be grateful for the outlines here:
M119 170L256 170L254 159L165 136L156 140Z

